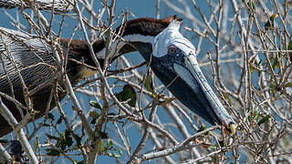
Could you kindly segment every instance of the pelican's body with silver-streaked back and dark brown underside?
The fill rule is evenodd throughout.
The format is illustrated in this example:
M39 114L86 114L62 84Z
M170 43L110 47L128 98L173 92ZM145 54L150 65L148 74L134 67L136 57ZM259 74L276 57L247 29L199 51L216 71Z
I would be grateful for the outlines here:
M31 97L34 109L41 110L36 118L44 115L46 111L44 104L47 104L53 88L48 81L52 81L50 79L57 70L49 46L36 36L0 27L0 54L0 92L16 98L26 106L22 81L25 82L28 91L44 85ZM45 85L46 83L49 84ZM4 97L2 100L16 119L21 120L21 112L15 103ZM52 103L49 109L54 107L54 102ZM23 113L25 114L26 110L23 110ZM11 131L3 117L0 117L0 129L4 129L0 131L0 137Z

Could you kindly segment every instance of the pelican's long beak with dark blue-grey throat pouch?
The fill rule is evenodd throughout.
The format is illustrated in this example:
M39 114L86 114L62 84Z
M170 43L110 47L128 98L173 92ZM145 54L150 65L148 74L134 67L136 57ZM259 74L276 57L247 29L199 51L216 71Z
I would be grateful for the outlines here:
M134 46L149 62L151 44L134 43ZM213 125L215 123L224 125L232 134L235 134L235 121L227 113L203 77L192 51L189 55L181 51L176 55L152 56L151 68L156 77L160 78L164 86L167 86L174 97L181 101L185 107L190 108Z

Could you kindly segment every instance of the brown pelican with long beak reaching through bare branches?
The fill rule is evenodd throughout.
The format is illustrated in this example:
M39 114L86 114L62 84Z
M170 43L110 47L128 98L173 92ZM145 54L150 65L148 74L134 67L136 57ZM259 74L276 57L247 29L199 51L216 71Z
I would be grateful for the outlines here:
M121 37L124 41L120 44L118 44L119 41L112 43L111 49L117 46L117 50L110 52L109 61L112 62L119 56L138 51L150 64L155 76L185 107L210 124L223 125L234 134L236 128L234 119L203 76L192 42L179 31L182 20L177 15L172 15L163 19L142 17L123 23L115 31L123 28ZM73 86L76 86L84 77L97 73L94 69L97 66L90 55L86 41L70 41L63 37L57 40L64 52L63 55L68 52L66 72ZM106 57L105 41L97 40L92 47L99 65L103 67ZM0 93L15 97L23 106L19 109L15 102L5 97L1 98L17 121L20 121L21 112L26 114L26 109L22 108L26 106L26 100L16 67L27 89L31 91L54 77L57 71L56 61L50 46L42 38L4 27L0 27L0 54ZM57 96L59 100L62 100L67 95L66 89L62 80L56 80L58 82ZM52 100L47 107L52 89L53 85L47 84L36 89L31 96L33 108L38 111L35 118L43 117L46 114L46 108L51 110L56 107L55 100ZM0 137L13 130L2 116L0 129L2 129Z

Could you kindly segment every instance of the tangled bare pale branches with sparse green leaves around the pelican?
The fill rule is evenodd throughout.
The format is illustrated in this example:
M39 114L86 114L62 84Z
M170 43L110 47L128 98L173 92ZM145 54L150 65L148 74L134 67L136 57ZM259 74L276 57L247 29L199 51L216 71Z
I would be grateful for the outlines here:
M87 0L66 2L72 9L67 14L40 11L41 4L26 1L23 6L31 9L20 7L16 15L6 15L17 28L52 43L55 56L60 46L54 36L67 30L69 17L77 20L72 38L78 34L89 44L103 38L109 54L113 42L122 39L113 35L114 26L134 16L127 9L118 13L116 0L100 0L100 6ZM32 163L95 163L106 157L120 163L288 163L292 160L290 9L288 1L157 0L152 10L156 18L161 10L183 17L184 36L196 46L205 76L237 121L234 136L220 126L210 128L183 107L144 63L121 56L113 66L98 66L99 75L76 87L58 68L68 97L58 102L55 112L26 126L26 136L18 137L26 155ZM25 20L19 21L19 14ZM61 20L59 26L55 20Z

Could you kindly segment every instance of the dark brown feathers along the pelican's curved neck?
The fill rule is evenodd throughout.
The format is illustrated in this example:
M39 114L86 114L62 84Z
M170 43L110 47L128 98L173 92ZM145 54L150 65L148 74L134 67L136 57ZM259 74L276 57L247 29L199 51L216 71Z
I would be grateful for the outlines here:
M118 26L115 29L115 32L118 33L118 31L120 31L120 28L123 28L122 36L130 36L130 35L157 36L166 27L168 27L173 20L182 21L182 19L178 18L176 15L172 15L163 19L152 19L152 18L133 19L124 23L121 26ZM67 38L60 38L60 43L62 46L67 47L68 41L69 40ZM141 40L141 42L143 42L143 40ZM128 46L125 46L125 47L128 47ZM99 52L102 53L101 51L104 48L105 48L104 40L98 40L93 44L93 49L94 49L95 54ZM113 47L113 49L115 49L115 47ZM135 50L134 48L123 48L122 51L118 51L120 52L118 56L129 53L134 50ZM82 59L82 62L85 62L89 66L95 67L95 64L93 60L91 59L91 55L89 53L89 47L85 41L72 40L69 46L69 54L71 55L71 57L74 57L78 61ZM98 57L100 61L102 60L103 62L103 58L100 56ZM115 56L115 58L116 57L117 56ZM110 61L113 61L115 58L110 58Z

